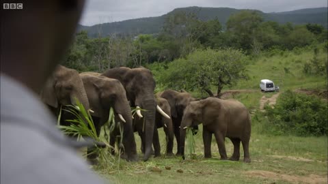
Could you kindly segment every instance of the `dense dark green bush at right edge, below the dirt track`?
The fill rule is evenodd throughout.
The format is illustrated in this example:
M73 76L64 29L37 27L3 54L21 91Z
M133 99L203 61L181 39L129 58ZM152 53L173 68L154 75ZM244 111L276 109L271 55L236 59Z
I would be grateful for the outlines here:
M297 136L327 135L327 102L314 95L292 91L282 93L274 108L266 107L274 129Z

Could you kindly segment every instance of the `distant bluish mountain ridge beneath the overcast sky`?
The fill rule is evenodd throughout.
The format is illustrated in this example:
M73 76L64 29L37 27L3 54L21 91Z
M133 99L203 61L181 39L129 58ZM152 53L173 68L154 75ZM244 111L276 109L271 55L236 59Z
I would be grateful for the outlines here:
M293 10L288 12L272 12L264 13L256 10L262 14L264 20L271 20L284 24L286 22L292 22L296 25L302 25L306 23L316 23L323 25L327 28L327 7L316 7L316 8L306 8L301 10ZM78 30L85 30L92 37L97 37L98 35L107 36L112 34L139 34L139 33L159 33L165 17L169 14L174 14L179 11L193 12L197 15L200 20L213 20L218 18L223 27L225 27L226 22L230 15L240 12L242 10L230 8L230 7L181 7L176 8L172 12L168 12L162 16L154 16L147 18L135 18L130 20L123 20L120 22L109 22L99 25L93 25L90 27L79 25Z

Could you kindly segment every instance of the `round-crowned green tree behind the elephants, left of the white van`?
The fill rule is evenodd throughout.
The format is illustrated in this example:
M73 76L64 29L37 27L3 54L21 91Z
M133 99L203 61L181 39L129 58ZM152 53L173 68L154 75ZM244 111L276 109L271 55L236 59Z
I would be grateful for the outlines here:
M240 50L195 50L186 59L176 59L169 63L163 83L174 89L194 90L213 96L212 86L217 94L228 85L232 86L245 76L245 55Z

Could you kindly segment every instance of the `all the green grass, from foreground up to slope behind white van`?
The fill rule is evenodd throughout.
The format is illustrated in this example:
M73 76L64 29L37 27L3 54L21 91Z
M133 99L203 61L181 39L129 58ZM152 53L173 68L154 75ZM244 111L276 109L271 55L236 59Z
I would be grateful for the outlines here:
M122 160L120 170L96 168L96 172L111 183L307 183L308 181L327 183L327 136L273 136L270 133L271 128L266 123L269 120L258 112L261 97L263 95L272 97L276 94L260 92L259 83L263 78L273 80L282 92L299 88L326 89L325 76L307 76L302 72L303 63L312 57L313 52L308 49L297 53L279 52L276 55L252 59L248 67L249 80L241 80L231 88L254 90L251 93L238 93L232 96L253 112L249 143L250 164L242 162L242 147L240 162L221 161L214 136L211 149L213 158L204 159L202 125L200 125L200 131L194 136L195 155L192 159L165 157L165 134L161 128L159 136L162 157L137 163ZM318 57L327 59L327 52L320 50ZM228 90L228 87L224 90ZM193 95L200 97L197 92ZM135 138L141 159L141 140L137 134ZM233 145L228 138L226 150L228 157L232 155ZM174 140L174 153L176 153L176 140ZM170 170L165 167L169 167Z

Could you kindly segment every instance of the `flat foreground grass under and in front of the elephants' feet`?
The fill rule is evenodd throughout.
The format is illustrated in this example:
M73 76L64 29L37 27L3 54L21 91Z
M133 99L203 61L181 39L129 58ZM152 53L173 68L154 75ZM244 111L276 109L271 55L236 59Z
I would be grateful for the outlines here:
M159 133L161 144L164 144L163 129L159 129ZM137 139L138 151L139 145ZM226 148L228 155L232 155L233 145L228 139ZM254 132L250 141L251 163L245 164L219 160L214 136L213 158L204 159L200 126L200 132L195 136L195 153L193 159L187 160L162 156L148 162L122 161L120 170L97 172L113 183L288 183L284 179L269 176L260 178L248 174L249 171L257 170L295 177L310 177L310 174L327 177L327 137L267 136ZM166 170L165 166L171 170ZM182 173L177 170L182 170Z

